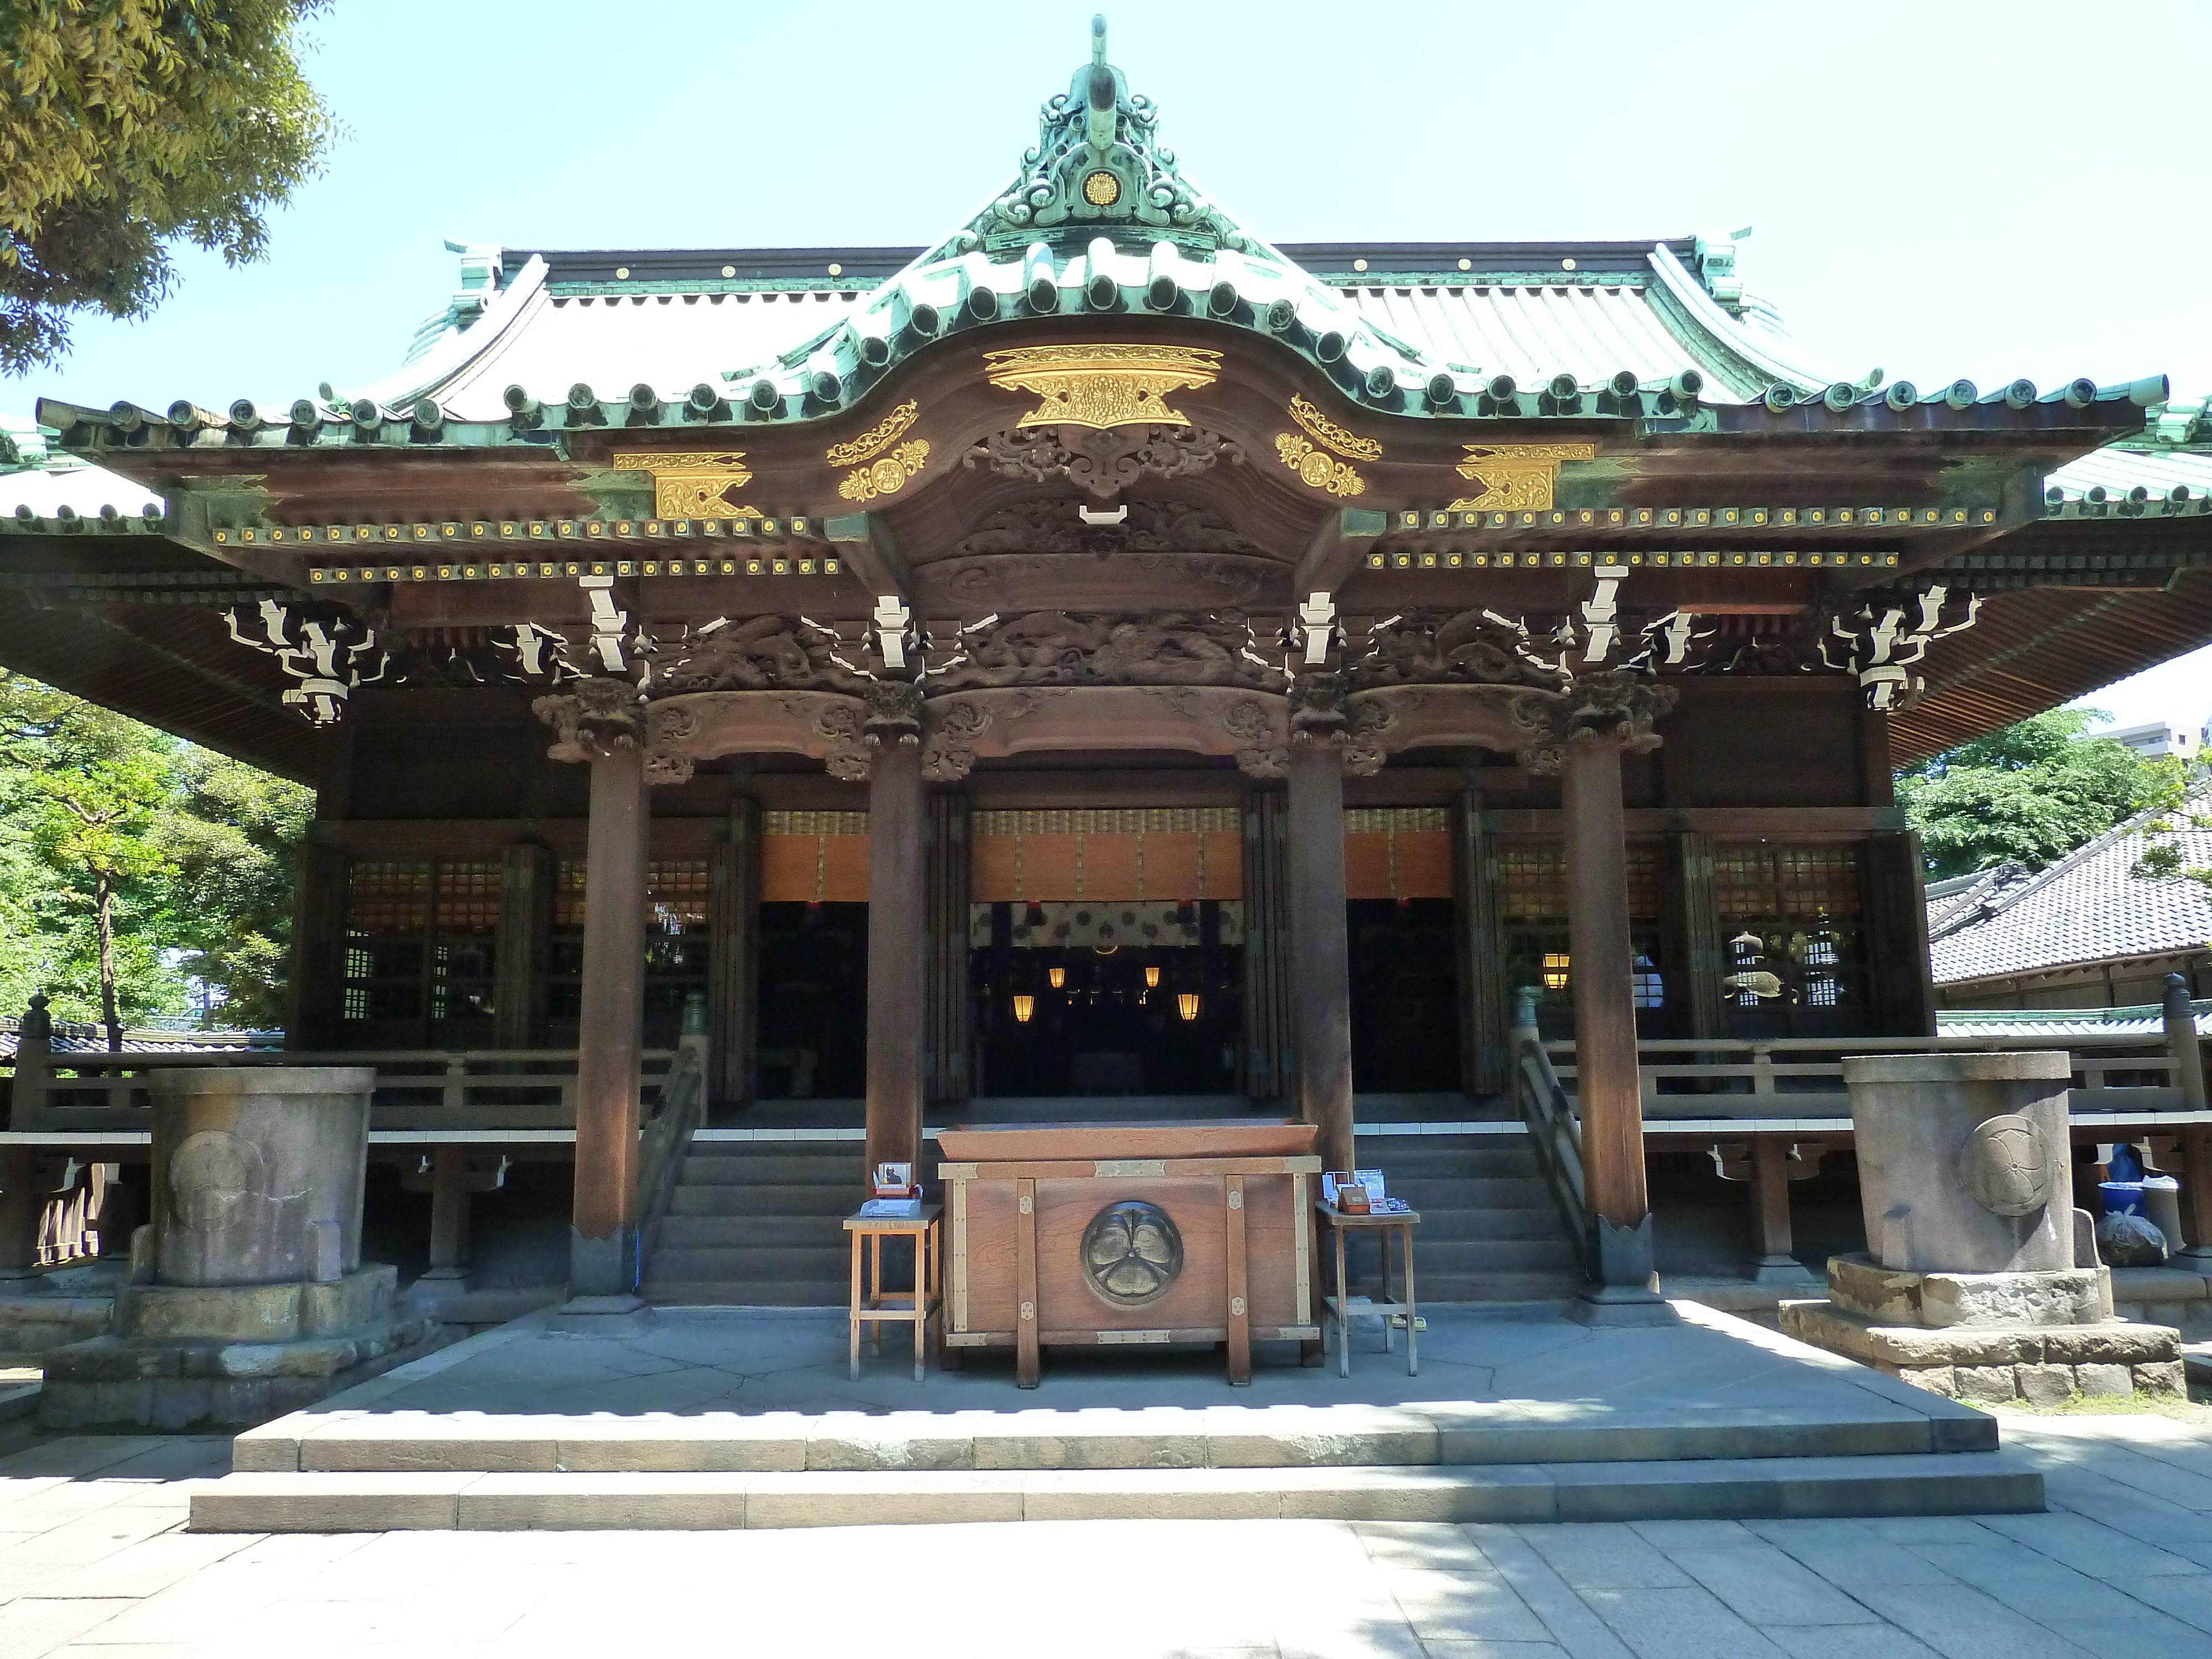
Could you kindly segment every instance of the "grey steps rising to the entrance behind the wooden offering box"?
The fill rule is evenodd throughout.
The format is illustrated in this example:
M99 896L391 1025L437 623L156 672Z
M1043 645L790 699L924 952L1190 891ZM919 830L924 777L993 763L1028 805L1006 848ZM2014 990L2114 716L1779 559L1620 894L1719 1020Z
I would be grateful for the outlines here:
M1553 1301L1579 1283L1573 1248L1522 1135L1374 1135L1360 1164L1420 1210L1422 1301ZM701 1141L646 1261L646 1298L692 1307L843 1307L843 1219L858 1141ZM933 1159L925 1159L931 1168ZM1356 1241L1356 1283L1371 1241ZM889 1263L887 1263L889 1265Z

